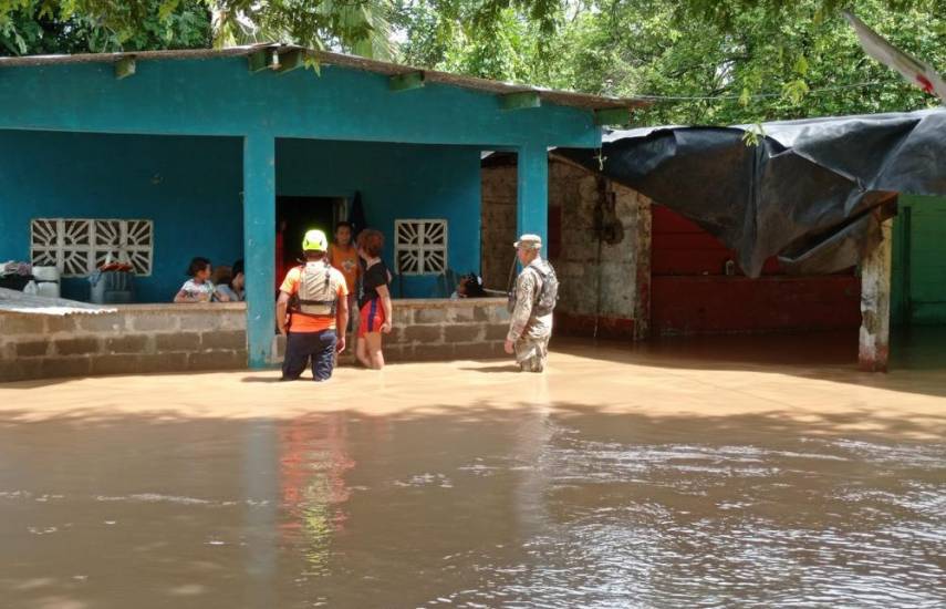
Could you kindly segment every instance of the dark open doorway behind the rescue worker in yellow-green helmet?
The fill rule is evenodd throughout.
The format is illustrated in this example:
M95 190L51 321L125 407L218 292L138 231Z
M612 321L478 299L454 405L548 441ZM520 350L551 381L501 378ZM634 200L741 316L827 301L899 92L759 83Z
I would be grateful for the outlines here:
M277 226L285 221L282 234L282 268L297 265L302 259L302 237L306 230L319 228L329 239L335 224L347 218L344 197L277 197Z

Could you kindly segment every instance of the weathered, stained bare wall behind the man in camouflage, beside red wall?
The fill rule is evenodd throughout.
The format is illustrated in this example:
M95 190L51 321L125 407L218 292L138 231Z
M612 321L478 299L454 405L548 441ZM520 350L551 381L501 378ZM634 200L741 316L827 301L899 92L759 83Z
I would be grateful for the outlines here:
M516 239L516 167L482 171L482 273L506 289ZM640 193L554 159L549 166L549 245L559 275L561 333L644 338L649 278L651 202ZM599 250L599 227L602 241ZM641 270L645 272L641 272ZM643 331L643 333L642 333Z

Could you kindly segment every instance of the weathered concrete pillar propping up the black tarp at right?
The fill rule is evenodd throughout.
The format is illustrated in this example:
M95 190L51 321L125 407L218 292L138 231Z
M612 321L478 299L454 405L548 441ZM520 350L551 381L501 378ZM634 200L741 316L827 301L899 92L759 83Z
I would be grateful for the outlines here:
M893 218L881 223L882 240L861 265L860 365L886 372L891 330L891 252Z

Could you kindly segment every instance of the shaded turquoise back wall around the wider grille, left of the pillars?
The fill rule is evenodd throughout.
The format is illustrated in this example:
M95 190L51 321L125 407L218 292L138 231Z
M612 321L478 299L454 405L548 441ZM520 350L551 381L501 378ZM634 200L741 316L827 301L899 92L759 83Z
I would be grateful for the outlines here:
M29 259L32 218L152 219L153 273L138 279L138 300L167 302L191 257L242 255L241 190L238 138L0 131L0 260ZM66 298L87 291L64 281Z

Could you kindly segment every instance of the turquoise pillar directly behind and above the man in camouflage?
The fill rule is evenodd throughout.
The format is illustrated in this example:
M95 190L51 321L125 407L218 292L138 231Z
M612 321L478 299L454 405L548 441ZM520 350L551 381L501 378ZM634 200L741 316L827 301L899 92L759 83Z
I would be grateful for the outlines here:
M549 153L545 145L519 148L517 177L519 202L516 207L517 236L530 233L542 237L543 256L549 248Z

